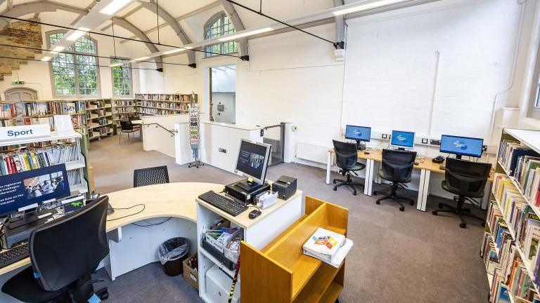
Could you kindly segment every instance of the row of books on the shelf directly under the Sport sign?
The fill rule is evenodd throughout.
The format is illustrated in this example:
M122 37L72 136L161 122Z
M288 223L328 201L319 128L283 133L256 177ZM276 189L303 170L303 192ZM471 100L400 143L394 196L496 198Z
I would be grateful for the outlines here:
M58 143L40 149L25 149L0 156L0 175L12 175L27 170L60 163L78 161L81 149L77 143Z

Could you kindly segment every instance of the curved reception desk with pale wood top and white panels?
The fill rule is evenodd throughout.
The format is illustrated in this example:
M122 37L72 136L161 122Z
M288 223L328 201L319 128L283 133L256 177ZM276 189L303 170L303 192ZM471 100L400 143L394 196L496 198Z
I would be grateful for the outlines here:
M198 231L201 224L206 224L209 216L231 216L200 201L198 196L206 191L220 192L223 189L223 184L183 182L136 187L107 194L110 205L117 209L115 213L108 215L106 224L110 255L103 260L103 267L108 271L110 278L115 280L129 271L151 262L158 262L158 246L174 236L189 238L191 253L195 252L195 248L200 250ZM145 205L141 213L139 211L143 209L142 206L131 208L137 204ZM214 215L205 211L203 212L205 215L198 217L198 212L203 208L212 210ZM303 211L302 191L297 191L287 201L278 199L276 205L262 210L262 215L255 220L248 218L250 213L248 210L233 220L245 229L245 241L261 248L300 219ZM132 224L142 220L168 217L172 217L173 220L153 227L138 227ZM261 236L257 235L259 232ZM199 259L199 263L203 263L203 257L200 256ZM30 258L26 258L1 268L0 285L29 265ZM0 293L0 302L18 302L10 299L12 298Z

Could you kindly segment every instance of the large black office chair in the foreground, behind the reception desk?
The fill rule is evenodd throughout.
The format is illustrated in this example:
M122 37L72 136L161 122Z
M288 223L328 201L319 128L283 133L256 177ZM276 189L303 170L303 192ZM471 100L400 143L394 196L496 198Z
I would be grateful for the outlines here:
M108 197L44 224L30 235L32 266L9 279L2 292L23 302L86 302L94 292L91 274L109 254L105 234Z

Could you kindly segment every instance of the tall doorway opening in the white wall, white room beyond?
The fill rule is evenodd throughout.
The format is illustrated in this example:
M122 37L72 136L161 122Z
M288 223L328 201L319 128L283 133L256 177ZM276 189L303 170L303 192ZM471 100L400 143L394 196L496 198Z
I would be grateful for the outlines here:
M236 65L210 68L210 120L236 123Z

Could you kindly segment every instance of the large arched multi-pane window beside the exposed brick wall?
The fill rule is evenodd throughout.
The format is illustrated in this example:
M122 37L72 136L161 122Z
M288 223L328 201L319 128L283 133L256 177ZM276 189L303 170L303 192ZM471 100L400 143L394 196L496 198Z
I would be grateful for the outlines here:
M48 48L63 39L65 32L48 33ZM51 60L53 95L55 97L98 96L97 43L83 36L65 48L70 53L58 53Z

